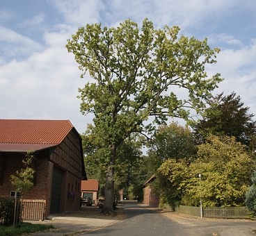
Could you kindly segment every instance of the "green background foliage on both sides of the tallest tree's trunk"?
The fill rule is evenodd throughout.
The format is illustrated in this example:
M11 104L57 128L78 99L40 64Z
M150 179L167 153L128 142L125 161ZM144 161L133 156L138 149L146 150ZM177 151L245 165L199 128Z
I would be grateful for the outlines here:
M86 166L86 174L88 178L99 179L100 196L104 196L104 178L106 176L106 162L102 160L100 150L102 146L100 140L97 140L97 135L93 130L94 126L88 125L85 133L82 135L83 154L85 155L84 162ZM128 189L129 185L140 182L138 170L141 168L141 145L142 142L137 138L138 135L131 135L125 140L117 151L117 161L115 163L115 194L118 190ZM103 189L103 191L102 191ZM133 189L137 189L134 187ZM133 193L138 195L139 193ZM128 194L127 194L128 195ZM141 195L141 194L140 194Z

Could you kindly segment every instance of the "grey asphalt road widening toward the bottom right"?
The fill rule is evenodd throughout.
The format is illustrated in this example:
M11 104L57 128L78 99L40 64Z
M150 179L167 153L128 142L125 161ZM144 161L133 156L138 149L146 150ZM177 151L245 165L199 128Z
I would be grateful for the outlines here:
M255 221L182 217L177 213L157 212L136 204L124 206L129 218L81 235L212 236L214 232L218 232L221 236L244 236L253 235L251 230L256 228Z

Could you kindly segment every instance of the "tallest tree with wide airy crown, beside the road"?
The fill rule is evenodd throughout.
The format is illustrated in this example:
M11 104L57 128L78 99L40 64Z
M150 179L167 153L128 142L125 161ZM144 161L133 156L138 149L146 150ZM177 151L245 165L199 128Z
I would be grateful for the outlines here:
M87 24L67 41L87 83L79 88L81 112L94 114L97 137L107 160L105 203L113 212L113 176L119 146L131 133L143 133L168 116L189 117L221 81L208 78L205 65L216 62L218 49L207 40L179 35L177 26L141 28L131 20L117 27ZM186 95L184 95L186 93ZM182 96L179 96L181 95ZM152 121L145 123L152 116Z

